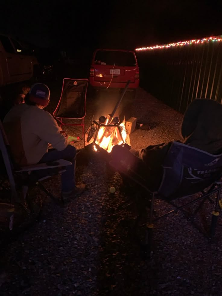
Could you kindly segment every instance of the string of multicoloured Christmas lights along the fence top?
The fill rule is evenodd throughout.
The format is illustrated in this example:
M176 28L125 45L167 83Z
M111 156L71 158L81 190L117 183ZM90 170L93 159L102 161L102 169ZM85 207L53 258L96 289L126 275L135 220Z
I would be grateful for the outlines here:
M206 43L206 42L210 42L210 41L215 42L215 41L221 41L221 40L222 40L222 35L205 37L202 39L192 39L192 40L188 40L188 41L179 41L176 43L168 43L168 44L163 44L163 45L140 47L140 48L136 48L135 50L140 51L140 50L162 49L162 48L169 48L169 47L178 47L178 46L183 46L183 45L188 45L188 44L201 44L201 43Z

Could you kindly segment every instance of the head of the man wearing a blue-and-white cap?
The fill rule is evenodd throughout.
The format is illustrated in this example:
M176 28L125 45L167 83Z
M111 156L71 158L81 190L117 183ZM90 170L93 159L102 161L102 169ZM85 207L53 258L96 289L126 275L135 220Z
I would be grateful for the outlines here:
M27 105L37 106L41 109L49 104L50 91L43 83L33 84L24 100Z

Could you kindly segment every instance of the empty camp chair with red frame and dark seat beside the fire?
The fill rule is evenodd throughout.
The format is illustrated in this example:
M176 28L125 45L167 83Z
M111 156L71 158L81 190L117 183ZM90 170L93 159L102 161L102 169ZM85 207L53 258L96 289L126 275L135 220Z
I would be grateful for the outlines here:
M82 126L84 134L84 118L86 116L86 93L88 79L64 78L62 93L53 116L62 125ZM81 123L65 123L64 119L81 120Z

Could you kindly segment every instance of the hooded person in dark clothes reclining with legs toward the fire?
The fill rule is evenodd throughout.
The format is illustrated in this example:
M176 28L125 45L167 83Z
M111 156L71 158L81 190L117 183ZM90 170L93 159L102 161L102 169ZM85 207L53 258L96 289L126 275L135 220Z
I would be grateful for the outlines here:
M196 99L186 110L178 142L190 145L210 154L222 153L222 105L214 100ZM112 160L123 162L138 173L150 190L157 190L163 176L162 164L172 142L150 145L139 151L136 158L126 148L116 145L111 152ZM123 181L126 182L124 177ZM132 184L132 181L127 184Z

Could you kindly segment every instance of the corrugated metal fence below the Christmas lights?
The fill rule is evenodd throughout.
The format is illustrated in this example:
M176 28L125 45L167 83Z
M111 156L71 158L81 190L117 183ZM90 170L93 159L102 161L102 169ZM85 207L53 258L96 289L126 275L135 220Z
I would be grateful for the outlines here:
M222 40L136 52L141 86L184 113L195 98L222 102Z

